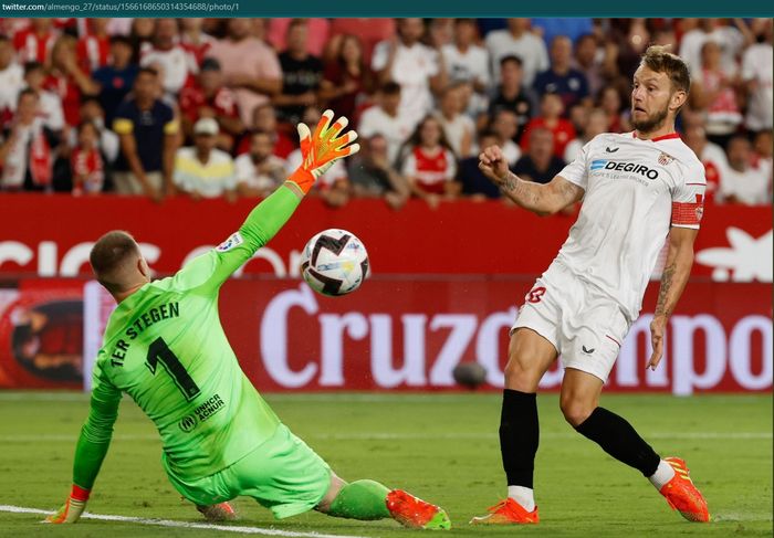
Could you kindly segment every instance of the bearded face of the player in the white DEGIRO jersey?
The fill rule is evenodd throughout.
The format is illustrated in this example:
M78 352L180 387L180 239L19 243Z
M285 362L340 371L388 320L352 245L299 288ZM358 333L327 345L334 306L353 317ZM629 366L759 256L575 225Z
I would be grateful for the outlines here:
M669 116L671 97L669 75L640 65L631 88L631 125L640 133L658 130Z

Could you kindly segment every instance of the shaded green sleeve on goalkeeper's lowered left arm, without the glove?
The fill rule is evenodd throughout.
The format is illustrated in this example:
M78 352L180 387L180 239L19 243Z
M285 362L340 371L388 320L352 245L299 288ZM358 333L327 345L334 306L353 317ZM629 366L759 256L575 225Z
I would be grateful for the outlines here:
M121 390L107 379L97 360L94 366L88 418L81 429L73 462L73 484L91 489L105 460L118 418Z

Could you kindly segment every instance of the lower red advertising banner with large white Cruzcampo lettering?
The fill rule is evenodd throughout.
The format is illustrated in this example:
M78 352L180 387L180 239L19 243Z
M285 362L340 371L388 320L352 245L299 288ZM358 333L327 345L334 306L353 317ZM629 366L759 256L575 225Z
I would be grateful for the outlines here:
M484 388L495 389L502 387L509 329L532 283L375 277L331 298L299 279L232 279L221 291L220 315L260 390L448 390L456 388L454 367L469 361L485 368ZM0 388L80 388L114 305L100 291L80 279L36 279L2 291ZM652 372L645 363L657 293L652 284L606 390L772 389L770 285L690 283L670 319L665 359ZM542 387L557 389L561 377L557 365Z

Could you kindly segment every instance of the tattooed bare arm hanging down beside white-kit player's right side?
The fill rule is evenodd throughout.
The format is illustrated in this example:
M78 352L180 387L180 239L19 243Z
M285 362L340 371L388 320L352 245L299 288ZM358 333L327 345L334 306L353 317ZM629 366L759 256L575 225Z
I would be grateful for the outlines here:
M656 313L650 323L650 340L653 352L646 368L656 370L663 356L663 331L672 315L693 265L693 242L699 230L672 226L669 232L669 251L661 273L661 288L658 294Z

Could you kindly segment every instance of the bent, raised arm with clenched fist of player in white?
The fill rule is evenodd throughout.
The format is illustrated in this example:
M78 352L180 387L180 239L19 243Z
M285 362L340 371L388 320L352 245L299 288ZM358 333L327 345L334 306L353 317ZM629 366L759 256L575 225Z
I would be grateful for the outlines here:
M479 156L479 169L500 190L522 208L540 215L554 214L579 201L584 190L556 176L550 183L524 181L508 168L508 161L498 146L485 148Z

